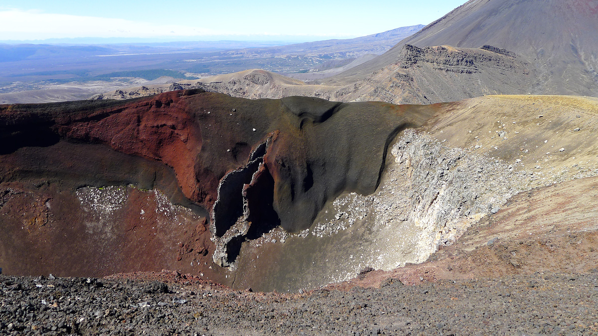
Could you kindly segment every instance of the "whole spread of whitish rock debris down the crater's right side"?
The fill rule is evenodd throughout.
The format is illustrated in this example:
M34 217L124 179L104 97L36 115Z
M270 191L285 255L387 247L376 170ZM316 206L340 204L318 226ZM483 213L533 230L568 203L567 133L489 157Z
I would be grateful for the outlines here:
M405 130L392 146L394 160L376 192L342 194L310 228L316 239L334 241L350 231L353 239L361 240L355 242L359 248L347 252L352 258L335 259L338 272L330 280L351 279L364 267L392 270L423 262L438 246L451 245L472 224L498 212L515 194L571 176L568 167L526 172L520 159L497 160L476 152ZM369 234L360 235L363 231Z

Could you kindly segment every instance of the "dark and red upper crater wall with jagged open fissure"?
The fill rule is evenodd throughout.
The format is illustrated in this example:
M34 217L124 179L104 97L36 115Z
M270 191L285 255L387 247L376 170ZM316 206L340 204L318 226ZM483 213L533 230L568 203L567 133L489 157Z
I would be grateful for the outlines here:
M49 185L48 197L65 194L71 200L88 187L160 191L170 203L208 218L204 226L212 230L202 232L215 247L206 249L219 251L213 259L228 265L240 244L272 227L289 233L309 228L325 203L343 191L372 193L392 139L421 126L434 111L310 97L248 100L202 90L124 101L2 105L0 139L10 145L0 153L0 185L38 196ZM84 209L89 207L72 206L50 231L71 220L83 225ZM17 209L9 204L4 211ZM18 231L18 224L4 227L7 237ZM6 262L8 254L2 258Z

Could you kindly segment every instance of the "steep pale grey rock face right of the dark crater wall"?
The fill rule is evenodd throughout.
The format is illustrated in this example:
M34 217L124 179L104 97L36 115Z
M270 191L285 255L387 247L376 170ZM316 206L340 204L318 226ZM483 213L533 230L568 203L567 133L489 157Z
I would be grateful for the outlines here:
M410 219L436 233L432 246L451 244L527 185L526 177L509 169L512 164L449 148L414 130L405 131L392 154L407 176Z

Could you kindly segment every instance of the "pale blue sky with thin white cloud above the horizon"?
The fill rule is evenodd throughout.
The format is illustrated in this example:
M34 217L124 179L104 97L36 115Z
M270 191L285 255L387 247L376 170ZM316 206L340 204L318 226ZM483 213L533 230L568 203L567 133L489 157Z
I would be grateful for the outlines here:
M428 23L466 0L0 0L0 41L315 41Z

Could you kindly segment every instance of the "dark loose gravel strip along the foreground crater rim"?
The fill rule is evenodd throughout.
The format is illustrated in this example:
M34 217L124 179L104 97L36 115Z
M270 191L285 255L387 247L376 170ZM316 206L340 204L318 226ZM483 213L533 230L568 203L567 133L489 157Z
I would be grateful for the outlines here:
M388 279L381 288L301 294L234 291L170 271L140 274L0 276L0 334L598 334L598 273L416 286Z

